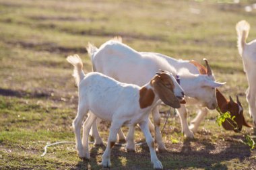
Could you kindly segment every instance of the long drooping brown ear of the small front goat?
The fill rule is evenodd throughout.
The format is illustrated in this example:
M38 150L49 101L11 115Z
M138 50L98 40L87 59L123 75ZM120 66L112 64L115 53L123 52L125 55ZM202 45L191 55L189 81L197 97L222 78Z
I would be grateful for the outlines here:
M160 99L172 108L181 108L179 99L174 95L174 93L168 89L163 83L159 81L154 82L154 89Z

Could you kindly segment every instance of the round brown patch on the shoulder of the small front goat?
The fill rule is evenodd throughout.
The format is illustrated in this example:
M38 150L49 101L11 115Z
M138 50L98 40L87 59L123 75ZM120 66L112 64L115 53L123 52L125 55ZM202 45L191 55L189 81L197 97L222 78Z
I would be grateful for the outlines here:
M155 93L152 89L148 89L147 87L142 87L139 90L139 106L141 109L147 108L152 105L154 101Z

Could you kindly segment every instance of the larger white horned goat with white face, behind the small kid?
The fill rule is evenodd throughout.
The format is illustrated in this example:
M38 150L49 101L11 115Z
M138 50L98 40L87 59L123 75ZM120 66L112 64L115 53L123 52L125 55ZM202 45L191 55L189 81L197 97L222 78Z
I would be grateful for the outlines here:
M100 48L96 48L89 44L88 52L91 56L92 65L94 71L104 73L114 79L123 83L133 83L136 85L143 85L148 82L152 75L154 75L159 69L169 71L174 76L180 75L181 87L185 90L186 101L201 101L202 105L207 106L211 110L214 110L217 106L216 101L216 87L220 87L223 83L218 83L212 75L212 70L207 61L207 75L193 75L187 71L187 69L173 69L172 64L168 63L166 58L158 57L154 53L137 52L129 46L120 42L120 40L110 40ZM182 65L188 61L177 60ZM175 67L175 66L174 66ZM193 69L197 71L194 65L191 65ZM179 114L183 126L183 132L188 137L193 137L193 132L189 130L187 124L187 112L186 108L181 105ZM158 106L152 110L154 125L155 125L155 138L158 143L158 150L165 151L166 148L162 142L162 136L160 134L160 114ZM98 131L96 130L96 123L92 126L93 134L96 140L96 144L102 142ZM151 126L152 127L152 126ZM135 144L133 141L134 127L131 127L127 136L127 150L135 150ZM123 133L119 132L120 136L124 138Z

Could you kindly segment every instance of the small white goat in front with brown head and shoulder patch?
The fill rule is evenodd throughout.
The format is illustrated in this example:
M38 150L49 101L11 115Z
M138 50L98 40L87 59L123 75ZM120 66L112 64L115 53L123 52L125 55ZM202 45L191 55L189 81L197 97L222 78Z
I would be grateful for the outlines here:
M151 109L160 102L160 99L174 108L180 108L179 103L184 97L181 86L171 73L158 73L146 85L120 83L115 79L101 73L84 74L82 60L78 55L68 56L67 61L74 67L75 77L79 91L79 104L77 116L73 120L78 155L90 159L88 135L96 117L110 121L110 134L108 144L102 155L102 166L110 166L110 151L115 145L117 132L122 125L135 126L139 124L146 142L150 148L151 162L155 169L162 169L162 163L156 156L154 139L148 128L148 116ZM83 142L80 136L82 121L88 113L92 113L84 122Z

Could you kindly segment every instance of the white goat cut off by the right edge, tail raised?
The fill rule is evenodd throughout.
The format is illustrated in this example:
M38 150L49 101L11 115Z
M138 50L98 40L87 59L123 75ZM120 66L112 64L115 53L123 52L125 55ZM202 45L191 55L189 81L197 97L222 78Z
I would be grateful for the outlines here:
M249 114L253 117L253 124L256 125L256 40L246 43L249 30L250 25L245 20L236 24L238 51L243 59L243 67L249 85L246 92Z

